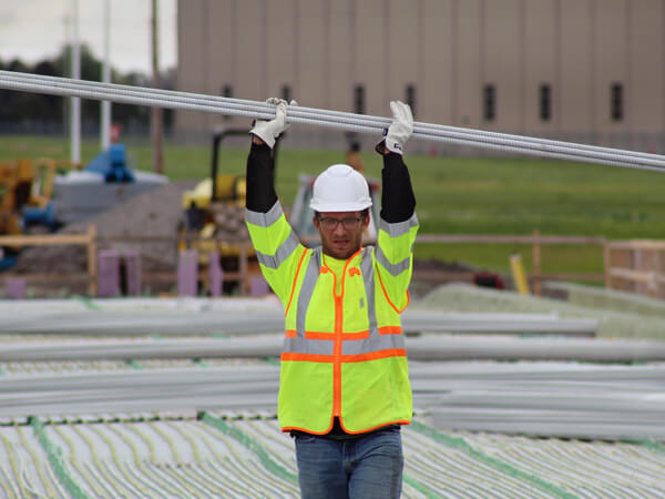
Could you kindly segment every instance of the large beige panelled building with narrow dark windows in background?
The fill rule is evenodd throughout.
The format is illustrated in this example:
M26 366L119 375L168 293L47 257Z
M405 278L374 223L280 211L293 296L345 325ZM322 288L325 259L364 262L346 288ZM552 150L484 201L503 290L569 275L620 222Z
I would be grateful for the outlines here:
M665 0L180 0L178 61L191 92L665 152ZM219 123L248 120L176 130Z

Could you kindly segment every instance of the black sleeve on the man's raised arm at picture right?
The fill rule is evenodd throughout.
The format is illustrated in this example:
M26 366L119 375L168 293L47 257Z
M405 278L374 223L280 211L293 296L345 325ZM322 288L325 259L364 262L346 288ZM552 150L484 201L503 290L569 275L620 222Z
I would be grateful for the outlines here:
M388 153L383 156L381 180L381 218L391 224L406 222L416 210L416 196L401 154Z

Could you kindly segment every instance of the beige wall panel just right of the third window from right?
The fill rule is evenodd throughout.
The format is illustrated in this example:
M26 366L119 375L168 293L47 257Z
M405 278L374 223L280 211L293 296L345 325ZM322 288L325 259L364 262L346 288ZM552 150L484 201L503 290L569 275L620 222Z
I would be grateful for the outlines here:
M493 122L483 123L483 126L515 132L521 124L521 0L484 0L482 6L481 32L484 33L484 43L481 48L481 71L484 78L481 83L497 86L497 118Z

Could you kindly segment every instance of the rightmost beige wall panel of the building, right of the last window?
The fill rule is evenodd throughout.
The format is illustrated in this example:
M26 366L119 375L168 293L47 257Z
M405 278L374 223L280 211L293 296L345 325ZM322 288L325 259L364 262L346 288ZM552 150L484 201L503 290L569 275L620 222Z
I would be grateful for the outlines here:
M630 12L630 125L636 133L665 129L665 2L634 0ZM646 144L654 152L653 144Z

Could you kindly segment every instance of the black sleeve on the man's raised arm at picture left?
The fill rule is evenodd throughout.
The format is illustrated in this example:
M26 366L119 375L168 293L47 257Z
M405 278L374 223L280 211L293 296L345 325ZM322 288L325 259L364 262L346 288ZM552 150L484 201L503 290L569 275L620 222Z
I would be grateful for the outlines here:
M267 213L277 202L273 151L266 144L252 143L247 157L247 210Z

